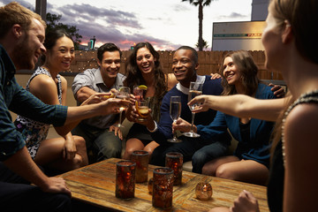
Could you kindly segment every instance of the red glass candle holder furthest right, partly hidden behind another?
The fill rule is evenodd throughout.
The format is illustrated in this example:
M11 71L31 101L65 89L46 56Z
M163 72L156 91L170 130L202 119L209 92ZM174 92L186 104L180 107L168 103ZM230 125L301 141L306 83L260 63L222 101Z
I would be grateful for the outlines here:
M183 155L178 152L170 152L166 154L165 166L174 171L174 186L181 185L182 183L182 165Z

